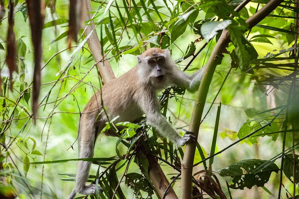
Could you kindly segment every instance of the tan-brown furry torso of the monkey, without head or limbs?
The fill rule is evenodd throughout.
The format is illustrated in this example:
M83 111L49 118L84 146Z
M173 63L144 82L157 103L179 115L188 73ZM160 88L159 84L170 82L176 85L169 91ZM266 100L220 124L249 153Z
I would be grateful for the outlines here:
M140 107L136 106L136 95L138 95L138 66L133 67L131 70L121 75L118 78L113 79L102 87L103 105L106 107L110 118L114 118L119 115L117 122L129 121L133 122L142 116ZM100 109L97 111L97 109ZM88 117L97 117L98 113L103 109L101 105L101 93L98 91L91 97L89 102L84 108L84 112L94 113L89 114ZM105 113L101 114L100 119L103 122L107 122ZM95 121L95 120L94 120Z

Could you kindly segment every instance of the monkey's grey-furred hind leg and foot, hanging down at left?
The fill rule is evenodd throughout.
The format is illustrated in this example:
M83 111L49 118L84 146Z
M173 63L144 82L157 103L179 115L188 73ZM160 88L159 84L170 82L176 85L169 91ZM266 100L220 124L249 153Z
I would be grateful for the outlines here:
M89 120L92 121L92 120ZM93 158L94 154L94 141L96 138L96 128L93 122L85 122L80 126L80 132L78 137L79 145L79 158ZM96 185L86 185L89 178L91 162L79 161L76 175L75 190L77 193L83 195L91 195L96 193ZM103 192L103 189L99 188L99 192Z

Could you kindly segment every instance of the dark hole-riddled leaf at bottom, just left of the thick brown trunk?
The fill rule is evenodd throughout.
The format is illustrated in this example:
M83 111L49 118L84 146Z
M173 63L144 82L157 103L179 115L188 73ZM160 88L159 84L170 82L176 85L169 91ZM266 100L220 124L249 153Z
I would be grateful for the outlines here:
M128 173L125 180L126 186L134 190L134 195L139 199L151 199L154 191L149 181L139 173ZM143 198L140 191L147 192L147 198Z

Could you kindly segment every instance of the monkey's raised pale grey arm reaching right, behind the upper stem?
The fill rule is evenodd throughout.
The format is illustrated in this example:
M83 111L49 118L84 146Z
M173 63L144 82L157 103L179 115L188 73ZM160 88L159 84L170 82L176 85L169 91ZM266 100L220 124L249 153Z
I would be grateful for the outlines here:
M186 88L189 92L195 92L199 88L204 71L205 67L202 67L192 75L187 75L178 69L177 74L173 75L172 83L176 86Z

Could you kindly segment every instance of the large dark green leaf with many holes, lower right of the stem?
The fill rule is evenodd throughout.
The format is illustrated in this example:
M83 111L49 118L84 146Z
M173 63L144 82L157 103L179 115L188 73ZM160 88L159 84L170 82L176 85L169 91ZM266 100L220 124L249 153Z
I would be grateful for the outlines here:
M279 168L271 163L263 170L254 172L255 168L267 162L266 160L249 159L231 164L228 168L221 169L220 176L230 176L233 183L229 186L232 189L251 189L254 185L263 187L269 181L272 172L278 173Z

